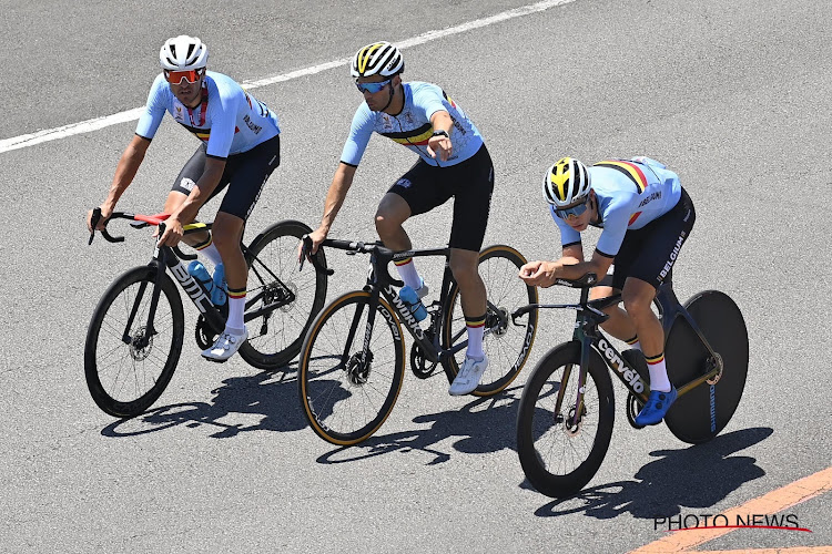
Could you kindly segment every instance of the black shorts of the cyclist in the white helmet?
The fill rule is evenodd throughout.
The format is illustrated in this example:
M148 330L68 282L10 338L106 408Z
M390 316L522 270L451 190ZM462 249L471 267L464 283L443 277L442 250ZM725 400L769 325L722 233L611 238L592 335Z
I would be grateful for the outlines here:
M205 172L206 147L203 143L196 148L191 160L182 167L171 191L191 194L191 189ZM263 185L278 165L281 165L281 135L257 144L247 152L231 155L225 162L225 171L220 178L220 184L205 202L227 186L229 192L223 197L217 212L225 212L246 220L260 198Z

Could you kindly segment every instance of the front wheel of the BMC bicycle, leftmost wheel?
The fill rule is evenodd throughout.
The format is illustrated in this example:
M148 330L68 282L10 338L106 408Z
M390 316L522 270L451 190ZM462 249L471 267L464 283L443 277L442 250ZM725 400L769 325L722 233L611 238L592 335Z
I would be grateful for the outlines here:
M182 352L182 299L166 274L152 326L148 325L155 277L154 267L143 266L115 279L87 330L87 387L110 416L132 418L150 408L168 387Z

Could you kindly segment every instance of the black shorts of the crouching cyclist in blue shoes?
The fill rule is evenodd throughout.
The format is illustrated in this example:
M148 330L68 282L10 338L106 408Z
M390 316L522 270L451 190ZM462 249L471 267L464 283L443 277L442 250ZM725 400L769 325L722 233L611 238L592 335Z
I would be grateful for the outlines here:
M670 277L679 250L696 220L693 202L682 188L679 202L670 212L640 229L628 230L616 254L612 288L622 289L628 277L636 277L659 288Z

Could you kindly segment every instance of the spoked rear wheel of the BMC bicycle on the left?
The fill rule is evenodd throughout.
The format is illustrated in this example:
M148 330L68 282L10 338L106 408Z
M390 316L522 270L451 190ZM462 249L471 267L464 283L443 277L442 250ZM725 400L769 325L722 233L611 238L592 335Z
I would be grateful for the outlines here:
M245 312L248 340L240 356L258 369L288 365L326 299L326 275L308 264L297 270L297 244L312 229L301 222L280 222L261 233L245 253L248 285ZM324 250L315 255L325 264ZM264 309L265 308L265 309Z

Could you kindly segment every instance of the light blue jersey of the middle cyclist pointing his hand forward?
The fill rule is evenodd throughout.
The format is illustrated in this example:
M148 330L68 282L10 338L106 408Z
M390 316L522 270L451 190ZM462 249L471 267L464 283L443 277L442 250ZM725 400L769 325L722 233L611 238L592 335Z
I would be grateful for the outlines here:
M479 151L483 136L445 91L435 84L422 82L403 83L402 89L405 105L397 115L373 112L366 102L362 102L353 116L349 136L341 154L343 163L358 166L373 131L406 146L422 156L425 163L434 166L456 165ZM454 120L450 131L454 150L446 162L440 162L438 156L433 158L427 153L427 143L434 132L430 116L438 111L448 112Z

